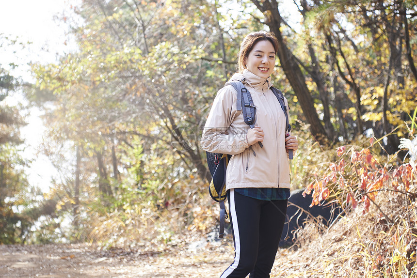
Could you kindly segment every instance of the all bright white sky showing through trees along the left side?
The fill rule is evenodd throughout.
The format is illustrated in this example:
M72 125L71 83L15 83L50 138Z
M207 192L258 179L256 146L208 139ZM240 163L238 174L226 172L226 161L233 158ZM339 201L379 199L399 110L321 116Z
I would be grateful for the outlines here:
M12 75L22 77L25 81L33 81L28 62L55 62L59 55L68 52L71 44L65 37L66 26L58 18L64 13L68 15L71 3L77 2L79 0L0 0L0 33L11 39L18 37L18 41L25 44L32 42L24 49L3 45L0 48L1 65L8 69L7 65L14 62L18 68L11 72ZM19 92L4 100L9 105L14 105L16 101L24 102ZM48 158L37 154L45 132L45 126L39 117L42 112L32 108L30 113L26 119L28 125L21 129L21 136L27 145L22 155L34 159L30 169L27 169L29 181L45 192L50 186L51 176L56 172Z

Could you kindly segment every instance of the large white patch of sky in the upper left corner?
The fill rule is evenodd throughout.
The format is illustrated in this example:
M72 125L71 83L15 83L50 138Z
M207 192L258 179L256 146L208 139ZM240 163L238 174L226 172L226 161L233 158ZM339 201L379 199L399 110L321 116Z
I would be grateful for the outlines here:
M18 37L25 49L11 53L1 49L0 62L15 62L21 68L13 74L30 79L26 73L29 61L54 62L57 55L69 50L65 38L66 26L58 18L69 15L70 5L78 0L0 0L0 33ZM69 43L69 42L68 42ZM8 50L4 53L4 50ZM18 73L18 74L17 74Z

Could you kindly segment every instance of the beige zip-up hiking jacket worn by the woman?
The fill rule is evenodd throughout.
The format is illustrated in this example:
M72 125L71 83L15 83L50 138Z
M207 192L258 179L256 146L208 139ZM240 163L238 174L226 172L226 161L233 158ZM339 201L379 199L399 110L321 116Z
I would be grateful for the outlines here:
M233 154L226 171L226 190L244 187L290 188L289 160L285 149L285 114L271 91L271 77L258 77L248 70L231 78L243 80L257 108L256 123L265 133L263 148L249 147L249 125L236 110L237 93L228 83L217 93L204 126L201 146L211 153ZM288 107L287 99L285 104ZM255 154L254 154L255 152Z

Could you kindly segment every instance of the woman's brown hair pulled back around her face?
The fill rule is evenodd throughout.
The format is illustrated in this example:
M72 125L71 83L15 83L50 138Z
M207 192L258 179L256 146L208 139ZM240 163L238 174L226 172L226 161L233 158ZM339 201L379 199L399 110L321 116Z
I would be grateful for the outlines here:
M244 37L239 50L238 72L241 73L246 68L245 59L259 41L270 41L275 50L275 54L278 52L278 40L273 32L258 31L247 34Z

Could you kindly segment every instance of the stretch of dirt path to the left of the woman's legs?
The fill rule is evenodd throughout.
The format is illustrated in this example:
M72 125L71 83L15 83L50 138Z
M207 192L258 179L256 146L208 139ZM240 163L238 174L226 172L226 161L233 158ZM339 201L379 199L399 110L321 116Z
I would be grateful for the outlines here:
M213 253L207 247L128 252L87 244L0 246L0 277L213 278L220 276L231 257L230 250Z

